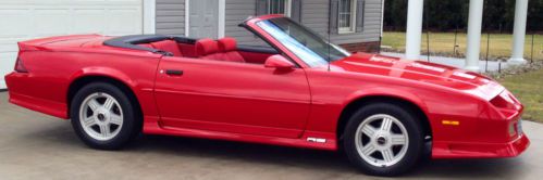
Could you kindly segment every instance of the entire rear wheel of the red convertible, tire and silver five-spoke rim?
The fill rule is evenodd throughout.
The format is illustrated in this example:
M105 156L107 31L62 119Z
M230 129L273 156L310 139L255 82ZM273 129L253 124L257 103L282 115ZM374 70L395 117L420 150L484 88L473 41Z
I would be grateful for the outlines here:
M139 132L141 117L129 98L118 87L92 82L83 87L71 106L72 126L87 145L116 150Z

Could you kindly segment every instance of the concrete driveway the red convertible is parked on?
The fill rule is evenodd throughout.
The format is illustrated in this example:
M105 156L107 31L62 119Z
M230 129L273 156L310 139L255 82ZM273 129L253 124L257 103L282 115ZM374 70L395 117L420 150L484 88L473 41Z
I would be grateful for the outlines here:
M0 179L381 179L334 152L146 136L123 151L86 147L70 121L8 103L0 93ZM541 179L543 126L517 158L429 160L400 179Z

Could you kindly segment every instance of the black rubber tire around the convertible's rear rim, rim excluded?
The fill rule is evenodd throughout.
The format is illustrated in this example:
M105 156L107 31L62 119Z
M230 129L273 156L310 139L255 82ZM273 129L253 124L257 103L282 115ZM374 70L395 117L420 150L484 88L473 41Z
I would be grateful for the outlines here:
M109 140L98 140L89 136L82 126L79 119L79 108L84 105L87 97L96 93L104 93L113 97L116 102L116 108L123 112L122 126L119 126L119 132ZM119 87L108 82L91 82L84 86L74 95L70 108L72 127L77 137L88 146L98 150L119 150L131 142L140 131L143 117L139 113L139 107L134 101L131 101L128 95Z

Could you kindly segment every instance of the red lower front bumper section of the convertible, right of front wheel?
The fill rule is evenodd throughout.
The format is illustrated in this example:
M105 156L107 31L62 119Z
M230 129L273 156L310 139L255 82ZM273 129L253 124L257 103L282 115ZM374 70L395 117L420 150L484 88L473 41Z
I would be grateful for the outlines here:
M530 145L526 134L506 143L434 142L432 158L503 158L515 157Z

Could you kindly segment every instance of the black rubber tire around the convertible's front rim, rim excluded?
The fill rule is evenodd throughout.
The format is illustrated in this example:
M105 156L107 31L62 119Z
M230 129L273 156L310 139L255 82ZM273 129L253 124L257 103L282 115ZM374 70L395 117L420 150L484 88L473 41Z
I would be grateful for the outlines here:
M407 130L408 142L406 154L398 158L399 162L390 166L375 166L369 164L358 153L356 144L356 131L358 127L374 115L388 115L402 123ZM365 173L373 176L398 176L411 169L423 154L424 131L420 124L420 118L407 106L396 103L378 102L362 106L349 118L343 139L344 151L349 160ZM367 140L373 141L373 140Z

